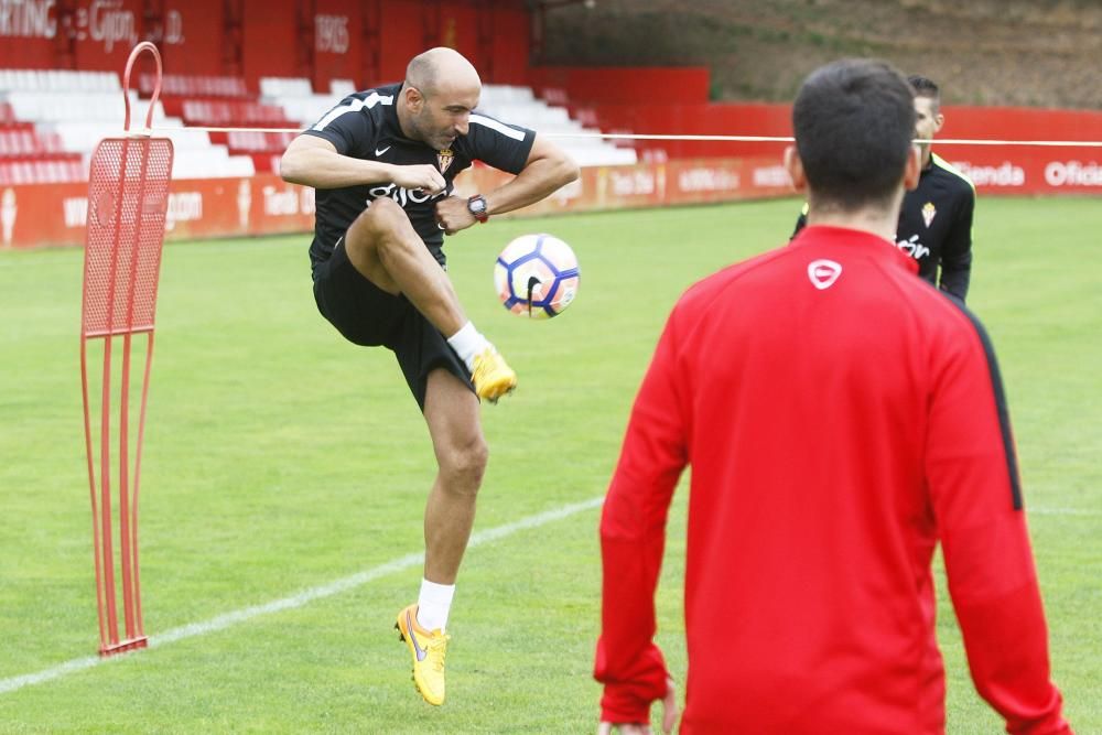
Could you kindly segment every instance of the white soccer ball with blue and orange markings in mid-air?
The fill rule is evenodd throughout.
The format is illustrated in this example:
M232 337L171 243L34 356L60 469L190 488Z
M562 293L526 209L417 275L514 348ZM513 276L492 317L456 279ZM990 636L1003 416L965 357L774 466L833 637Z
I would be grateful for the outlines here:
M551 318L570 306L581 278L570 246L551 235L521 235L494 264L494 285L514 314Z

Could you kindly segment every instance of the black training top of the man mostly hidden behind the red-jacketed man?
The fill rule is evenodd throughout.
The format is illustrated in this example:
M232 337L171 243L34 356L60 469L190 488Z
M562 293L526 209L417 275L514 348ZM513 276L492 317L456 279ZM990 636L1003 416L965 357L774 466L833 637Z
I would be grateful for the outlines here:
M972 215L975 187L964 174L932 154L918 187L907 192L899 209L896 245L918 261L918 274L961 301L972 273ZM796 233L807 224L807 206ZM793 233L793 236L795 234Z

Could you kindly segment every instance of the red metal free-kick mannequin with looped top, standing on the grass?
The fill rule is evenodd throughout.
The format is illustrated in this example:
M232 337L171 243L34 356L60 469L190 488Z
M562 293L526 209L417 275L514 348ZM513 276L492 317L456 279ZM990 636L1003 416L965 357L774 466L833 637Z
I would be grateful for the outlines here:
M127 61L122 89L126 98L123 138L100 141L91 156L88 179L88 225L84 258L84 303L80 320L80 381L84 393L84 433L91 489L93 545L96 558L96 605L99 612L99 653L111 656L144 648L141 619L141 586L138 574L138 480L141 443L145 430L145 402L153 357L153 315L164 244L164 218L172 175L172 141L130 133L130 72L143 51L156 62L156 85L145 116L147 130L153 119L161 87L161 56L151 43L138 44ZM131 341L145 335L138 435L130 437ZM112 346L121 337L122 366L119 377L118 505L112 511L111 417ZM89 408L88 343L102 341L97 488L97 453L94 451ZM133 471L131 473L131 450ZM118 548L115 523L118 516ZM116 566L122 587L123 636L119 636Z

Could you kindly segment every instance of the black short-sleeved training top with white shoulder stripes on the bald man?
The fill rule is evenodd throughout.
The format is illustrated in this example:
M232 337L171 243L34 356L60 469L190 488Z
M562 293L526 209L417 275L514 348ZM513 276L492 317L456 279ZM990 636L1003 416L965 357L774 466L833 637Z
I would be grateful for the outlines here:
M400 84L393 84L349 95L303 134L327 140L337 153L366 161L435 165L447 185L436 195L409 191L393 183L317 190L314 241L310 246L311 266L327 260L345 230L371 199L380 196L389 196L406 210L413 229L443 266L444 233L436 226L435 201L452 193L455 175L468 167L472 161L483 161L514 174L525 167L536 133L479 112L472 112L467 134L456 138L450 150L437 151L406 138L395 107L400 89Z

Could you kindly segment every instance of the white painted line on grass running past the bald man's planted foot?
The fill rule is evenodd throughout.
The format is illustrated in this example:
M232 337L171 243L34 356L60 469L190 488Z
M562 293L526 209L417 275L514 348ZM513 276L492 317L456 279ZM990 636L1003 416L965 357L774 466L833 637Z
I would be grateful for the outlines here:
M562 508L557 508L555 510L548 510L545 512L537 514L534 516L529 516L528 518L521 518L518 521L511 523L506 523L505 526L498 526L496 528L489 528L485 531L478 531L471 537L469 543L467 543L467 549L473 549L479 547L484 543L490 543L497 541L498 539L504 539L508 536L512 536L518 531L528 530L531 528L539 528L540 526L545 526L552 521L561 520L568 518L583 510L590 510L592 508L598 507L604 501L604 496L591 498L590 500L583 500L582 502L575 502L573 505L563 506ZM263 605L253 605L252 607L246 607L233 613L226 613L225 615L219 615L217 617L210 618L204 623L193 623L191 625L181 626L179 628L172 628L162 634L149 637L149 647L155 648L158 646L166 646L169 644L174 644L177 640L184 640L186 638L194 638L196 636L205 636L207 634L217 633L218 630L224 630L230 626L237 625L238 623L245 623L251 620L255 617L260 617L261 615L270 615L271 613L279 613L281 610L294 609L295 607L303 607L314 602L315 599L323 599L325 597L332 597L333 595L341 594L342 592L348 592L349 590L355 590L360 587L368 582L379 579L380 576L386 576L387 574L392 574L395 572L401 572L411 566L417 566L424 563L424 554L406 554L404 556L399 556L391 561L379 564L378 566L372 566L371 569L364 570L350 576L329 582L328 584L323 584L318 587L311 587L309 590L303 590L302 592L291 595L290 597L282 597L280 599L274 599L270 603ZM42 684L47 681L53 681L54 679L60 679L66 674L75 673L77 671L84 671L85 669L90 669L93 667L99 666L100 663L106 663L109 661L119 660L121 658L128 658L136 653L140 653L140 650L126 653L123 656L117 656L112 658L99 658L97 656L86 656L79 659L73 659L72 661L66 661L64 663L58 663L57 666L51 667L48 669L43 669L35 673L26 673L19 677L11 677L9 679L0 679L0 694L7 694L9 692L15 692L24 687L33 687L34 684Z

